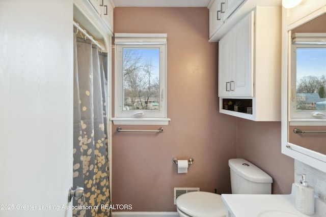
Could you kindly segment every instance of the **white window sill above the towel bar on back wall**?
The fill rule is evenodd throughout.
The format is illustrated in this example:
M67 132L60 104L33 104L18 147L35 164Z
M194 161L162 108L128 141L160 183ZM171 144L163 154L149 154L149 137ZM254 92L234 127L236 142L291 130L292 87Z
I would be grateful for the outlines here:
M112 117L114 125L169 125L170 118Z

